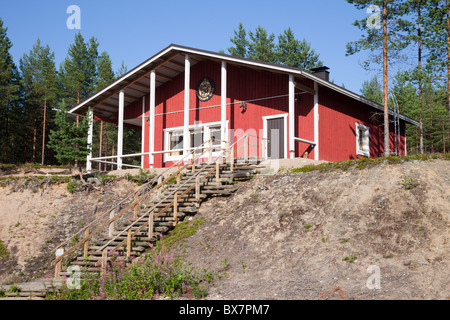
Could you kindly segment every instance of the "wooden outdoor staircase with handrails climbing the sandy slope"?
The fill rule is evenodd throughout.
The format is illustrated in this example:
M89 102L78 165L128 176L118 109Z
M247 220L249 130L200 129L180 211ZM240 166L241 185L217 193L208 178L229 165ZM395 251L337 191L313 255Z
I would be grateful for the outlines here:
M221 155L215 159L211 154L217 147L212 149L212 144L210 147L202 145L204 151L198 155L193 151L187 164L182 159L172 166L177 168L175 173L155 177L115 208L101 214L55 249L55 252L60 251L52 261L55 277L70 276L69 266L79 267L82 275L99 271L106 268L113 255L129 262L132 257L152 247L161 235L186 216L195 215L203 201L233 194L237 189L236 181L250 179L259 162L253 160L249 163L248 152L243 159L236 159L235 154L239 151L236 145L242 140L222 149ZM243 141L248 148L248 136ZM199 162L208 153L209 161ZM80 237L83 238L61 253L64 246Z

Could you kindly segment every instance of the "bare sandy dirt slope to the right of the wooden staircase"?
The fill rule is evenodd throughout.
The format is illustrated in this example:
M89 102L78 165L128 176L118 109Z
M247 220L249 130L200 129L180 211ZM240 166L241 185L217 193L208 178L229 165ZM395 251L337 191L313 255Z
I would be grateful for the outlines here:
M256 176L194 219L210 299L450 298L449 161Z

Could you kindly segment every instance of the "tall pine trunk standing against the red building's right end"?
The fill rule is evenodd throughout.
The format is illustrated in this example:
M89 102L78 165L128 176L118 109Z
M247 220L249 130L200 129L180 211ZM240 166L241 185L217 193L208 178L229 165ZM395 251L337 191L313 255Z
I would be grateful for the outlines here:
M388 91L388 35L387 35L387 0L383 1L383 91L384 91L384 156L391 155L389 139L389 91Z

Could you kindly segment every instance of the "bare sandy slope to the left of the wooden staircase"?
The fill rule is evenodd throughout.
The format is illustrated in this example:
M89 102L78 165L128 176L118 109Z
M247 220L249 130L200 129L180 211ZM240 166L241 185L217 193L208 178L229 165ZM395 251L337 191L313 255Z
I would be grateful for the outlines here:
M99 190L71 193L67 183L30 174L17 170L0 184L0 245L7 252L0 255L0 284L52 276L52 250L138 188L116 179Z

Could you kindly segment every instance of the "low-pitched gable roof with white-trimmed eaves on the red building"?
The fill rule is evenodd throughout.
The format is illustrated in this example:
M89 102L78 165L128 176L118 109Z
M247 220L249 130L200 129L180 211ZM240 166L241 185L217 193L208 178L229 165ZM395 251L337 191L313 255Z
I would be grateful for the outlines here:
M157 69L156 86L160 86L167 81L172 80L180 73L184 72L184 54L189 54L192 57L191 66L205 60L225 61L238 65L244 65L250 68L264 69L271 72L291 74L301 78L312 80L318 83L319 86L328 87L340 94L346 95L352 99L362 102L367 106L384 111L384 107L378 103L370 101L361 95L344 89L332 82L326 81L320 77L315 76L305 70L284 66L280 64L256 61L248 58L235 57L223 53L206 51L185 47L181 45L171 44L162 51L158 52L148 60L144 61L134 69L130 70L111 84L107 85L97 93L80 102L77 106L72 108L69 112L75 114L85 115L88 108L95 107L95 112L102 114L104 117L112 117L118 109L118 101L115 95L121 90L125 91L126 103L131 103L150 92L149 73L151 70ZM304 88L308 91L308 88ZM389 110L390 114L394 114ZM405 115L400 114L399 118L409 122L413 125L419 126L420 123Z

